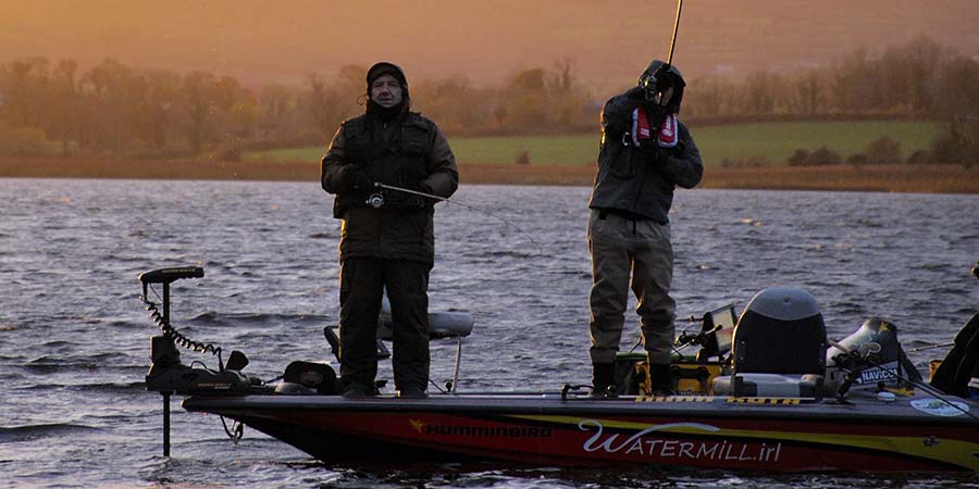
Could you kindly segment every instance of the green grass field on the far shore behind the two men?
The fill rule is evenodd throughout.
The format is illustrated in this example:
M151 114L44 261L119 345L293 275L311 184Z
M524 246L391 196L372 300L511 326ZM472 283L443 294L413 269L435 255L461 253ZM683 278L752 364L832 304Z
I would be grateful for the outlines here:
M940 129L931 122L800 122L730 124L691 127L707 166L724 159L735 161L764 159L783 163L796 149L815 150L826 146L844 159L859 152L868 142L888 136L901 142L904 158L927 149ZM450 138L460 164L513 163L523 151L531 164L588 164L598 152L598 135ZM258 151L248 160L319 161L323 148L296 148Z

